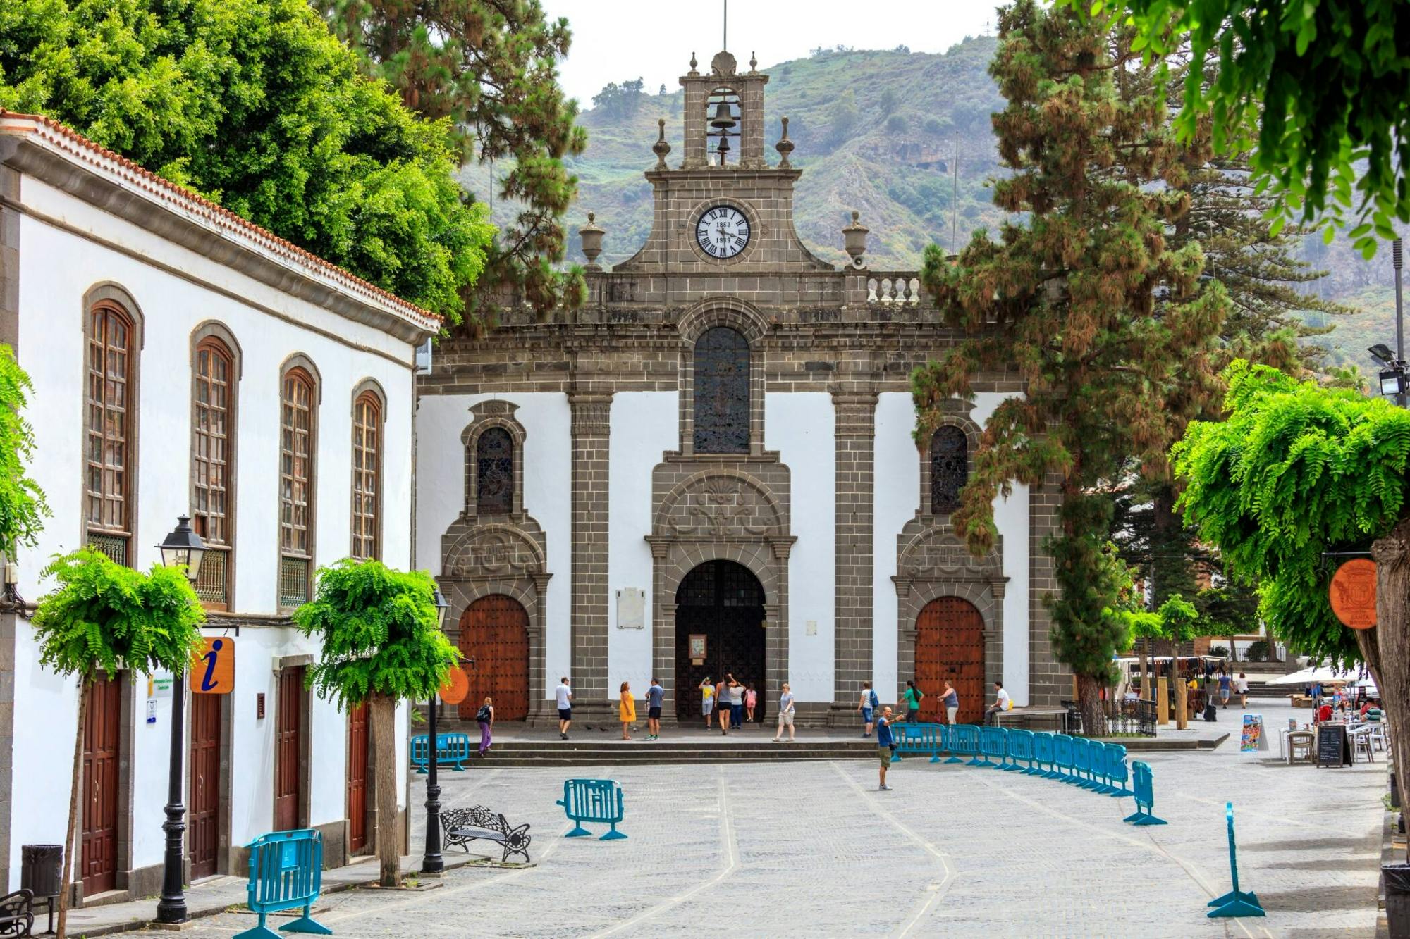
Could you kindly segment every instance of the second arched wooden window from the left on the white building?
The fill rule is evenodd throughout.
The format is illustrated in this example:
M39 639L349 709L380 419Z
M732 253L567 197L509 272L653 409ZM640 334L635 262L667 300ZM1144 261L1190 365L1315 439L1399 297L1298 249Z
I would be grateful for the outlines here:
M235 357L219 336L196 341L192 357L190 515L206 543L196 595L230 609L234 533Z

